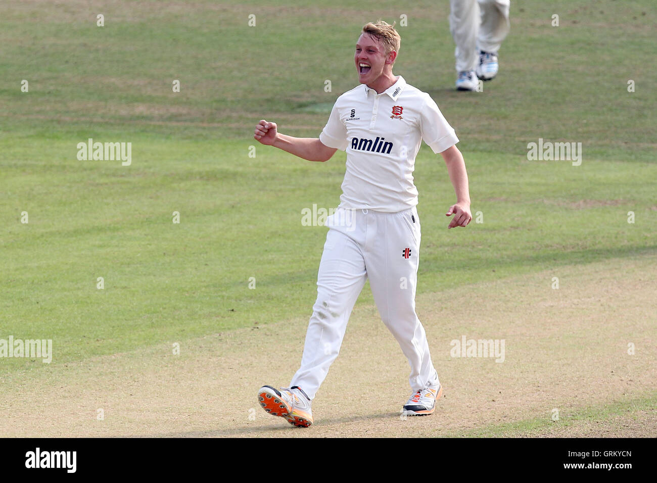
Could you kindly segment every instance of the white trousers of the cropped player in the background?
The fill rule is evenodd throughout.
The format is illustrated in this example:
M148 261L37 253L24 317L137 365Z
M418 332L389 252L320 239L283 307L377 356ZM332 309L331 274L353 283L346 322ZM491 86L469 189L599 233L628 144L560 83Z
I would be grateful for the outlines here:
M509 34L510 0L450 0L456 70L474 70L479 51L497 52Z

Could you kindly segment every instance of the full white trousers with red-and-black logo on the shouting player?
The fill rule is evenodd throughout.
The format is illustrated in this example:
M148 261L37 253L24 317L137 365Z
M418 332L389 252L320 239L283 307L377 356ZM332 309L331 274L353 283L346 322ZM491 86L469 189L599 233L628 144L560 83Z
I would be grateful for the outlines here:
M424 327L415 313L420 219L399 213L338 208L329 227L317 274L317 301L306 333L301 367L290 382L313 399L336 359L365 281L383 323L411 365L413 391L438 386ZM371 361L372 364L380 361ZM385 361L380 365L385 370Z

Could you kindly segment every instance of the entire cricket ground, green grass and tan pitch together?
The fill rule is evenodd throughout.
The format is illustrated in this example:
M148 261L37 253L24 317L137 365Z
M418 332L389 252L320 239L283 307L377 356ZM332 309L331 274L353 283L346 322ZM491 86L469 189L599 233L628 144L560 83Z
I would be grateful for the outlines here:
M53 361L0 357L0 436L657 436L654 3L512 2L483 93L453 91L448 1L353 5L3 4L0 339L52 339ZM407 363L366 287L316 426L292 431L255 392L300 361L326 234L302 210L338 204L345 155L305 162L253 129L317 137L362 25L401 14L395 73L455 127L483 221L445 229L453 190L423 146L418 310L444 407L399 421ZM131 165L78 160L89 138L130 142ZM539 138L582 143L581 166L528 160ZM462 335L505 339L505 362L451 358ZM337 405L363 384L381 407Z

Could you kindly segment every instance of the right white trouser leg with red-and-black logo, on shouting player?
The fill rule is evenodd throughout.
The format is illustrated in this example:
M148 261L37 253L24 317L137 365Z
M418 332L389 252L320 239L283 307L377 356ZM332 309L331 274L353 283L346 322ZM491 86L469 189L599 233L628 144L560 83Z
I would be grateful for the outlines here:
M411 365L413 391L438 386L439 382L424 327L415 313L419 248L420 220L415 210L369 215L367 275L381 319Z

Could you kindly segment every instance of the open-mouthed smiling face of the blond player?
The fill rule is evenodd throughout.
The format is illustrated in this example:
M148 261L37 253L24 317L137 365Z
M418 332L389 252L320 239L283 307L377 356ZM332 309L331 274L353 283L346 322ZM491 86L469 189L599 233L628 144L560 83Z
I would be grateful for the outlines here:
M360 83L378 91L379 85L384 85L393 78L392 63L396 56L395 51L386 55L385 45L373 35L361 34L353 56Z

